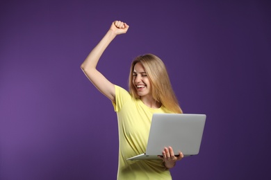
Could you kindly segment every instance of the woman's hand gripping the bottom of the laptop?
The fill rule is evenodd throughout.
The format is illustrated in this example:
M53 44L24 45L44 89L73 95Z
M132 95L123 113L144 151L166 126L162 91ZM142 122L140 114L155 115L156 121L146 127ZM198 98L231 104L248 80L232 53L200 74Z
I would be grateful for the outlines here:
M183 153L179 152L179 156L175 156L172 147L165 147L162 154L163 156L159 157L164 161L165 168L168 169L173 168L176 161L180 161L181 159L183 159Z

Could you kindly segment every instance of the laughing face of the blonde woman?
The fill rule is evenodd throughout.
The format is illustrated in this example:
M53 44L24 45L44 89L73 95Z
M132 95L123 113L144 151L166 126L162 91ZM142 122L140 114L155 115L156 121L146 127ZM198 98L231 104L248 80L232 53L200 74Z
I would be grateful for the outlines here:
M151 95L151 83L141 63L133 67L133 85L138 91L138 96Z

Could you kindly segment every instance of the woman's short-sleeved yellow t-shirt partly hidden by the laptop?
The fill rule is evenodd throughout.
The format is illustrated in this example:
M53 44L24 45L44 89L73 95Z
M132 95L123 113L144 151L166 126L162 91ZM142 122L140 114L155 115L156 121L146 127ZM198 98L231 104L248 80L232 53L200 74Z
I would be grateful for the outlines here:
M120 144L117 179L172 179L162 160L126 160L146 151L152 114L171 112L163 106L159 109L147 107L118 86L115 86L115 100Z

